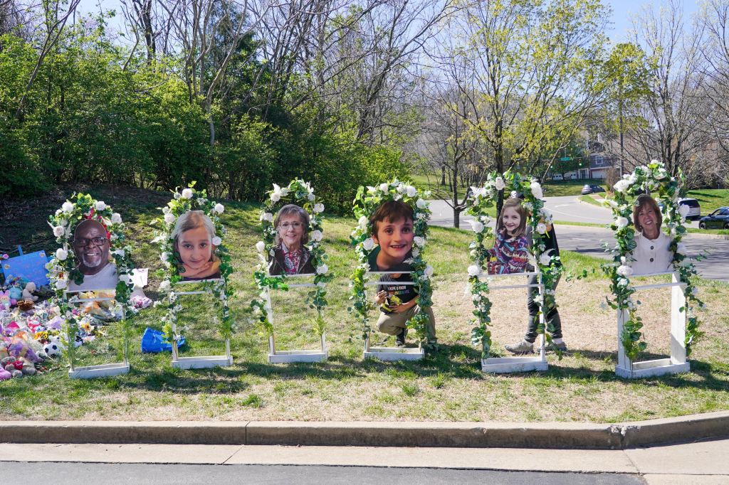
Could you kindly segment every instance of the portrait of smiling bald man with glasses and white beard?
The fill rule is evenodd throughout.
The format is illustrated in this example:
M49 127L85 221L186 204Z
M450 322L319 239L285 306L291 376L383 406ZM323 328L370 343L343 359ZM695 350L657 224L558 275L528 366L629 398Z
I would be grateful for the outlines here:
M117 268L109 260L109 237L100 222L87 219L74 231L74 254L84 275L83 283L69 284L69 291L108 290L117 287Z

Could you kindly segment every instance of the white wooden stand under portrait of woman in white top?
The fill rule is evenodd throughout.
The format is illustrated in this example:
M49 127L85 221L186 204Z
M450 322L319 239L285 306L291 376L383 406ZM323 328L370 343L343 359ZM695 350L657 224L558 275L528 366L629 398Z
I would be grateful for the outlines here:
M677 272L651 273L650 275L636 276L660 276L671 275L671 283L658 283L655 285L634 286L636 290L647 290L649 288L671 288L671 357L655 360L643 360L634 362L625 355L623 340L623 323L628 320L628 310L617 310L617 366L615 374L625 379L639 379L641 377L662 376L664 374L680 374L691 370L691 365L686 361L686 297L683 293L685 283L682 283ZM684 311L681 311L681 308Z

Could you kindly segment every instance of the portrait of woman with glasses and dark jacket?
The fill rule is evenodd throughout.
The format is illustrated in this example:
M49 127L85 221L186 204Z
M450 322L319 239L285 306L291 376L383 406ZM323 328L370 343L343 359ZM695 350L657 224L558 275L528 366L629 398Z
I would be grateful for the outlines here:
M309 275L314 272L311 253L306 248L309 240L309 215L298 205L284 205L273 221L276 229L276 247L270 258L270 275Z

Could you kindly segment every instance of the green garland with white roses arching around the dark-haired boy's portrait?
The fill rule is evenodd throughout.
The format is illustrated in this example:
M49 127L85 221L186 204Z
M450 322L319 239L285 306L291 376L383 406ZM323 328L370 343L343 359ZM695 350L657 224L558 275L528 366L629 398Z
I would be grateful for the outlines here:
M429 192L422 194L429 196ZM362 329L362 339L370 335L369 313L375 304L367 298L367 281L370 265L367 262L370 253L375 248L375 241L372 237L372 224L370 216L384 202L400 200L410 205L413 209L413 263L411 264L414 286L418 293L418 306L421 308L431 307L433 268L423 259L423 254L428 239L428 220L430 218L429 202L421 197L421 192L414 186L398 181L397 178L389 183L383 183L376 187L360 186L354 198L354 216L358 219L357 226L352 231L351 243L355 247L359 266L354 269L351 276L351 300L354 300L352 307L348 310L354 312L359 319ZM428 316L420 312L408 321L408 328L413 328L421 344L427 350L433 350L435 342L428 342L427 337Z

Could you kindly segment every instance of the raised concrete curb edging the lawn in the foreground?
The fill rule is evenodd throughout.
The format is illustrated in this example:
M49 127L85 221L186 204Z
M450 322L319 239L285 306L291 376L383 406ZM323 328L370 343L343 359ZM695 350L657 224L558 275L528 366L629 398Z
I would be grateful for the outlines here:
M7 443L625 449L729 436L729 411L623 424L4 421Z

